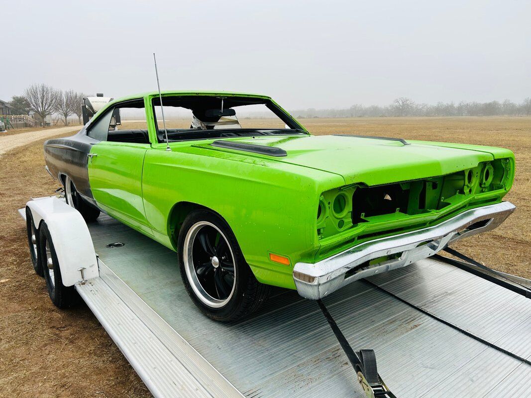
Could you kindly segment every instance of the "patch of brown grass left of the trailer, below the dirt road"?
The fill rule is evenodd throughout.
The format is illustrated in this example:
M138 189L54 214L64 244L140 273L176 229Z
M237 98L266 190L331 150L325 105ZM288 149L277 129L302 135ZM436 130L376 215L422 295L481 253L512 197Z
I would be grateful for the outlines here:
M43 141L0 158L0 396L148 397L90 310L58 310L33 272L16 209L57 187Z

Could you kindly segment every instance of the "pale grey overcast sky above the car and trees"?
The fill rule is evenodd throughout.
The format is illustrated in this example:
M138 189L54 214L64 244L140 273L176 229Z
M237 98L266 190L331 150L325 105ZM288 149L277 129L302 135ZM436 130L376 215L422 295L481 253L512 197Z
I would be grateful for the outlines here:
M2 0L0 99L264 93L288 109L531 97L531 1Z

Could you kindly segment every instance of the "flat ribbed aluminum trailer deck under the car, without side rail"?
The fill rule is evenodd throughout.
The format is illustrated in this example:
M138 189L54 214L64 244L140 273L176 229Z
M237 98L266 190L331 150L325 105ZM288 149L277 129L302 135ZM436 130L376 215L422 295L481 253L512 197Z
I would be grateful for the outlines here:
M253 317L217 323L187 296L174 252L109 217L89 229L109 269L244 395L364 396L315 302L279 289ZM125 246L106 247L116 241ZM531 357L531 306L516 293L435 259L371 281L486 341ZM380 374L398 397L498 397L531 386L531 366L364 282L324 302L353 348L376 351Z

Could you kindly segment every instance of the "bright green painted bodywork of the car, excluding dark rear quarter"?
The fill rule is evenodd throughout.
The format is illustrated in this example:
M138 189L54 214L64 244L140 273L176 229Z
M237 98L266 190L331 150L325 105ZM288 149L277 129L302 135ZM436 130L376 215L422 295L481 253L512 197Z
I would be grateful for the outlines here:
M269 99L163 93L179 94ZM126 98L144 98L151 142L157 141L149 104L156 95ZM365 240L498 203L515 170L511 151L477 145L312 135L225 140L277 146L288 155L215 148L209 145L213 140L170 143L170 151L164 143L102 142L93 146L98 156L89 161L93 195L113 217L174 250L186 213L208 207L233 229L259 281L294 288L295 263L312 263ZM372 201L365 193L388 188L405 202L384 214L361 213ZM269 253L288 256L291 265L271 262Z

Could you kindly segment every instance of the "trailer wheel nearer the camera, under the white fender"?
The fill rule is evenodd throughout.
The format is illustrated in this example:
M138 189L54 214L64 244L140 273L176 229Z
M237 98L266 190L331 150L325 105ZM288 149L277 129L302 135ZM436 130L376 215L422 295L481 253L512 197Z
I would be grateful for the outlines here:
M69 308L78 304L80 297L74 287L63 284L54 243L46 222L39 228L39 256L48 295L54 305L58 308Z

